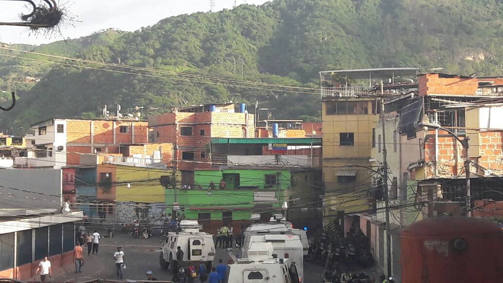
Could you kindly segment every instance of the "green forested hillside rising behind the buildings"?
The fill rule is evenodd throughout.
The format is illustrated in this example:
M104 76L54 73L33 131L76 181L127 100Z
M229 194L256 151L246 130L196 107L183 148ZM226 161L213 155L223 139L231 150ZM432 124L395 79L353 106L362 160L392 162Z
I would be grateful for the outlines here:
M319 70L338 68L418 66L461 74L503 73L502 15L501 0L277 0L171 17L132 33L106 31L22 47L165 71L316 87ZM0 87L5 91L10 85L19 96L13 111L0 113L0 129L27 129L49 117L95 117L103 105L116 103L123 109L145 106L144 114L155 114L187 103L254 105L259 100L260 106L278 109L275 118L320 114L319 96L274 91L272 86L226 86L174 73L66 63L154 76L0 56ZM27 82L26 75L42 79Z

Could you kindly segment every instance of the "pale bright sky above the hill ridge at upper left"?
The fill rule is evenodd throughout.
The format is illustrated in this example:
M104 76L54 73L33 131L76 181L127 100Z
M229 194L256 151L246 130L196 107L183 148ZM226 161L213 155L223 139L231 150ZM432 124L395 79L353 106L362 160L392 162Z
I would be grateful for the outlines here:
M232 9L234 0L214 0L215 11ZM61 35L30 35L23 27L0 26L0 42L46 44L65 38L79 38L108 28L135 31L171 16L210 11L210 0L56 0L75 20L61 27ZM261 5L266 0L236 0L237 5ZM41 0L35 0L41 3ZM31 6L30 6L31 8ZM26 3L0 0L0 22L19 22L29 14Z

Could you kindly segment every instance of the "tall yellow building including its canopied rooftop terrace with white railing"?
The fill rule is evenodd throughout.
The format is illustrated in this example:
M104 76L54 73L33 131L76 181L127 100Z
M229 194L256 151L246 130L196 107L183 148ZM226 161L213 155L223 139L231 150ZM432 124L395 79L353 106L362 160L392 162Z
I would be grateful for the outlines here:
M338 213L371 208L368 191L373 186L379 93L399 96L408 91L417 72L417 68L320 72L325 224L334 222Z

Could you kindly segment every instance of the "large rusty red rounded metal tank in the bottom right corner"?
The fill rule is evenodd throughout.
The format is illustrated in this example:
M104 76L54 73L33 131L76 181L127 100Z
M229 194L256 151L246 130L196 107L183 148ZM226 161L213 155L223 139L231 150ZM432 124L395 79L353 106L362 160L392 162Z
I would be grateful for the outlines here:
M403 283L503 282L503 231L477 218L429 218L402 229Z

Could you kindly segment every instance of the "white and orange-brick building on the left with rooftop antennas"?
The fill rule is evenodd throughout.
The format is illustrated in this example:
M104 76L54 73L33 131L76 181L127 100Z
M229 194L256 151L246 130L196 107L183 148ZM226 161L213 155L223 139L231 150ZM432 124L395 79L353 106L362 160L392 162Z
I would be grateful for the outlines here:
M32 149L27 150L27 157L16 158L14 164L18 167L78 165L80 154L118 154L123 144L148 142L148 123L129 117L53 118L32 125L32 129L35 131Z

